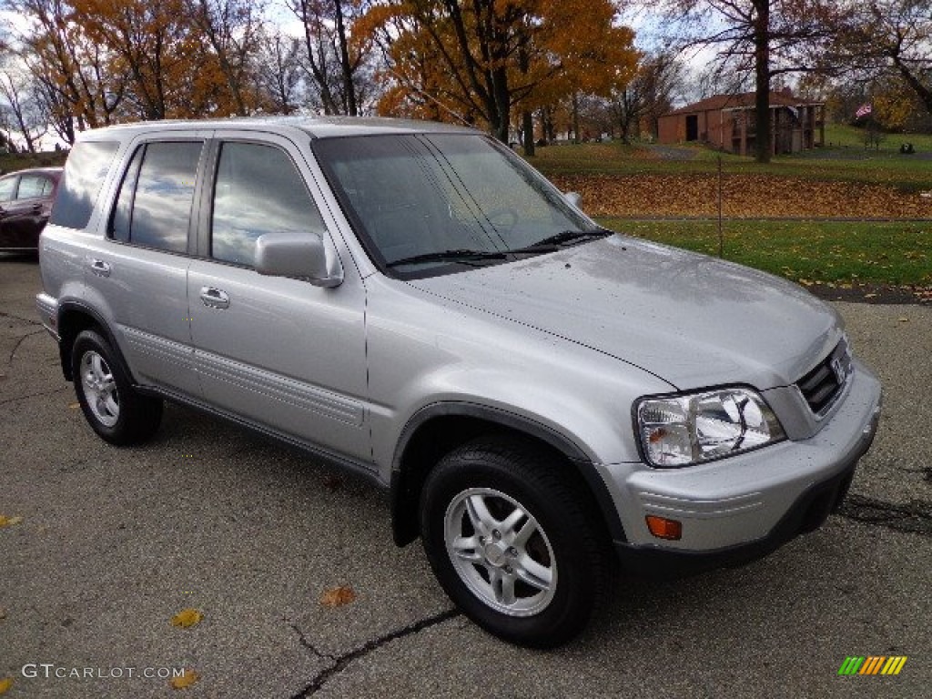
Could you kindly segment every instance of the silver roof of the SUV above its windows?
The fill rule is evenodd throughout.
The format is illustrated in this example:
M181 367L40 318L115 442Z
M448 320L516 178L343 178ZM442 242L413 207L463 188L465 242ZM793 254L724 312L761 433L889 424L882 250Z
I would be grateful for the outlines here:
M107 134L145 133L152 130L256 130L279 133L301 130L311 138L338 138L385 133L479 133L469 127L442 124L436 121L395 119L386 117L231 117L227 119L166 119L118 124L84 131L80 140L103 140Z

